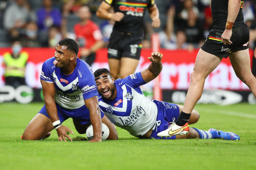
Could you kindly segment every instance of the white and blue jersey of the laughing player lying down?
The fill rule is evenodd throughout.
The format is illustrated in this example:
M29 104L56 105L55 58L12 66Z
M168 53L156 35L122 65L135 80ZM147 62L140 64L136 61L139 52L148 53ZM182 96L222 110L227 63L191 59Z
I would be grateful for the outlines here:
M141 72L115 81L117 96L106 100L99 94L99 105L107 117L133 136L144 135L156 123L157 106L146 98L139 86L146 84Z

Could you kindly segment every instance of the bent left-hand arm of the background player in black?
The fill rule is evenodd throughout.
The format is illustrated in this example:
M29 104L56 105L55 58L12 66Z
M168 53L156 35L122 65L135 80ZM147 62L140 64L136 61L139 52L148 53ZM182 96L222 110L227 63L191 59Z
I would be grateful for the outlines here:
M111 5L103 1L96 12L96 16L101 19L107 19L107 20L111 19L114 21L121 21L124 17L124 14L121 12L116 12L114 14L110 13L109 12L110 8L111 8Z

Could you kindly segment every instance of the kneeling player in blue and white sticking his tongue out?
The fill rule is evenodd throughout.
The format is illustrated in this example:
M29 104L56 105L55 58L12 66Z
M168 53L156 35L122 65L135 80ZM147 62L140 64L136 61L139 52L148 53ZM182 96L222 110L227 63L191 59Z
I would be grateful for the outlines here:
M73 118L78 133L93 126L94 138L89 142L101 142L102 123L108 126L107 139L117 139L117 131L104 113L100 111L96 84L90 66L77 58L78 45L70 38L60 40L54 57L43 63L40 76L43 87L44 106L29 122L23 140L39 140L56 129L59 141L72 139L61 123Z

